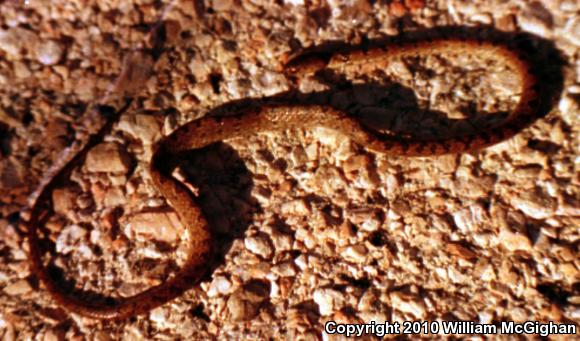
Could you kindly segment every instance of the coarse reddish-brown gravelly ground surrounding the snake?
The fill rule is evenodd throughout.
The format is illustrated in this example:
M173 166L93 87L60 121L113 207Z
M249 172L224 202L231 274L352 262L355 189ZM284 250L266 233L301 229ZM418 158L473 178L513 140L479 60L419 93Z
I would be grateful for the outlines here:
M329 338L328 320L578 324L579 14L573 0L0 2L0 337L312 340ZM157 61L132 55L159 22ZM216 233L213 271L125 322L69 315L29 269L19 212L94 128L91 104L135 94L53 191L45 257L78 288L129 296L171 276L187 248L147 166L153 143L188 120L283 92L304 100L296 88L417 138L474 131L487 113L512 110L513 70L476 55L400 60L331 85L296 86L281 72L312 46L450 25L553 44L565 63L550 114L460 155L375 154L320 129L191 153L179 175ZM137 75L123 76L128 65Z

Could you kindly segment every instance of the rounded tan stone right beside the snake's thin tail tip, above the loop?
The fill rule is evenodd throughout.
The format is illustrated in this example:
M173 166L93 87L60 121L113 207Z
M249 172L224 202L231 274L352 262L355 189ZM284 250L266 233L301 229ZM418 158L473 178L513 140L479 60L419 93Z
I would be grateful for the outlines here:
M117 143L101 143L87 153L85 161L89 172L127 173L131 165L129 154Z

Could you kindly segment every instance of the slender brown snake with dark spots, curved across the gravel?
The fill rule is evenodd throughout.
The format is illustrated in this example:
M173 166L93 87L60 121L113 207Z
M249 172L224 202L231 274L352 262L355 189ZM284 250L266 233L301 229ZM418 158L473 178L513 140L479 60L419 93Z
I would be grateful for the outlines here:
M263 104L230 113L227 116L204 116L192 120L163 137L154 147L149 162L153 186L177 213L188 231L189 248L185 262L169 279L129 297L91 301L81 299L55 279L53 271L43 262L39 238L45 211L43 202L50 201L55 183L66 176L70 161L37 190L30 204L28 229L29 257L33 274L44 285L54 301L70 313L103 320L124 320L146 314L182 295L201 282L209 273L214 239L197 198L172 172L178 166L180 154L200 149L227 139L251 136L260 132L288 129L327 128L346 135L356 144L376 153L397 156L432 156L458 154L478 150L511 138L539 116L538 77L525 56L506 44L478 39L435 38L424 41L393 43L366 50L333 54L312 54L291 59L285 72L292 76L311 75L321 70L344 71L348 67L387 65L406 57L470 54L500 61L516 73L520 94L515 109L499 127L486 128L470 135L452 136L441 140L397 139L365 127L342 110L320 104ZM78 158L75 158L78 159Z

